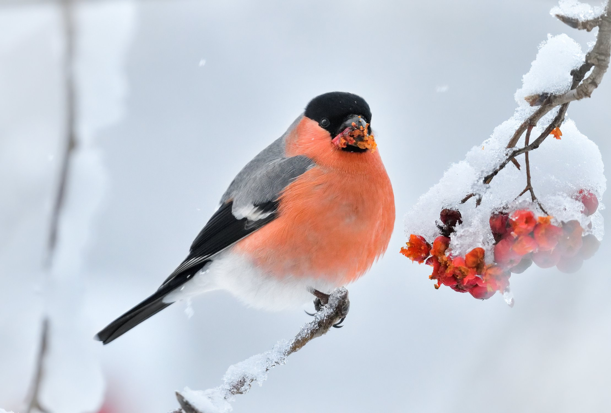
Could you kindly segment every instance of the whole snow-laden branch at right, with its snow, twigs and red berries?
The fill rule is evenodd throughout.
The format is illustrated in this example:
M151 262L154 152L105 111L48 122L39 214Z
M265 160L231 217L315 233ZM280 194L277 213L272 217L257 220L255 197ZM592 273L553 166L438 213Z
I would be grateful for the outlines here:
M592 63L591 56L609 59L611 18L585 6L560 1L552 13L563 13L558 17L577 28L601 25L588 55L567 35L549 35L522 78L513 117L452 164L406 214L409 242L401 253L433 268L435 288L481 299L501 291L511 300L512 272L533 263L575 272L598 249L604 233L599 199L606 189L601 153L565 119L568 102L580 98L568 96L572 89L590 80L584 77L592 66L599 65L597 82L607 69L604 59ZM586 27L584 18L598 20Z

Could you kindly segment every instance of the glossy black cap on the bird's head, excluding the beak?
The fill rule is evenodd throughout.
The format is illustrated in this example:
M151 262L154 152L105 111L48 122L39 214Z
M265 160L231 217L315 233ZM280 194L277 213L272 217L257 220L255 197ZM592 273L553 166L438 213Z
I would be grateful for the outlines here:
M350 115L359 115L371 123L371 110L360 96L348 92L329 92L310 100L305 107L305 116L318 122L331 136L340 133L342 123Z

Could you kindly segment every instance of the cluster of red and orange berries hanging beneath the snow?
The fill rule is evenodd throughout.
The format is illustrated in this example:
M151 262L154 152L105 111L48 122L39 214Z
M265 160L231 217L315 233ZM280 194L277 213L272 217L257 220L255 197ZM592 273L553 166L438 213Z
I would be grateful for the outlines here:
M598 208L598 199L589 191L580 190L576 199L584 204L585 215ZM533 262L540 268L556 266L562 272L575 272L600 245L596 236L583 235L579 221L561 222L557 226L552 225L551 216L535 217L529 210L497 212L489 220L495 244L494 260L487 265L481 247L470 250L464 257L447 251L456 224L462 223L459 211L444 209L440 219L437 228L441 236L434 239L432 246L422 236L412 234L401 254L432 266L429 278L437 280L435 288L447 285L478 299L490 298L496 291L508 291L511 272L520 274Z

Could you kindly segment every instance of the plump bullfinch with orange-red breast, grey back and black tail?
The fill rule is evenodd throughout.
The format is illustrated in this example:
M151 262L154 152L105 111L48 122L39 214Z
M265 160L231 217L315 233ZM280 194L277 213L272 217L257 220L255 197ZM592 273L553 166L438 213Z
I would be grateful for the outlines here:
M213 290L257 309L296 308L312 294L320 306L384 254L394 222L369 105L353 93L324 93L236 175L158 290L95 338L108 344L172 303Z

